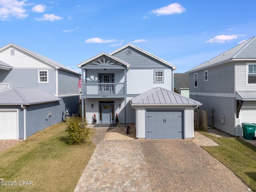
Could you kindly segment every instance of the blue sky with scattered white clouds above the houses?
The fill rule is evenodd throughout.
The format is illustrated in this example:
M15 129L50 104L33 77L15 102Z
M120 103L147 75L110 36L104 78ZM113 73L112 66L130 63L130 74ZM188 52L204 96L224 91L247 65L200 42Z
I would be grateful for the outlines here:
M0 0L0 46L12 42L78 70L88 58L132 43L186 72L256 36L255 6L255 0Z

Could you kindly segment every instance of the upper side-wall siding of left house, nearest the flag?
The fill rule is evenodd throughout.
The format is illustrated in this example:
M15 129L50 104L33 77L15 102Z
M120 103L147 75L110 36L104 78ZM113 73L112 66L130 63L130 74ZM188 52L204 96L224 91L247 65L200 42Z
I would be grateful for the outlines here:
M63 70L58 70L58 94L78 94L79 76Z

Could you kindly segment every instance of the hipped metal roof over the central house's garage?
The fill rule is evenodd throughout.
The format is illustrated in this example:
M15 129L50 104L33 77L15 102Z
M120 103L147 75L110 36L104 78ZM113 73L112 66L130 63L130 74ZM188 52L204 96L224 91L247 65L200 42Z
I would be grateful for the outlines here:
M200 102L174 93L162 87L152 88L131 99L131 104L134 105L202 105Z

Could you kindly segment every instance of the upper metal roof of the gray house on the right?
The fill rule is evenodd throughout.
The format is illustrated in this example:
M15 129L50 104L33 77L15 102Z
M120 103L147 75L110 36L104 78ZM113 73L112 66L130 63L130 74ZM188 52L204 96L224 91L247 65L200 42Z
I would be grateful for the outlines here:
M210 66L218 65L232 59L256 59L256 36L233 47L232 49L188 70L186 73L198 71Z

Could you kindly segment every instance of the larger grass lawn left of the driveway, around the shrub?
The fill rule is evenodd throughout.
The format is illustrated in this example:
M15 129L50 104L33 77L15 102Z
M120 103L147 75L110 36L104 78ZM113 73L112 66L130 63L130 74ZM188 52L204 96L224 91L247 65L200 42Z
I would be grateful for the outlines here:
M0 186L0 191L74 191L96 146L91 142L68 145L65 127L64 122L58 123L0 153L0 178L33 182L32 186Z

